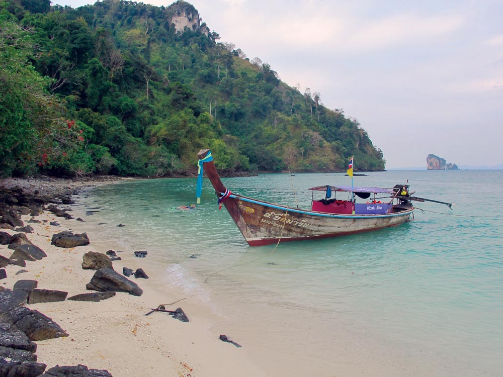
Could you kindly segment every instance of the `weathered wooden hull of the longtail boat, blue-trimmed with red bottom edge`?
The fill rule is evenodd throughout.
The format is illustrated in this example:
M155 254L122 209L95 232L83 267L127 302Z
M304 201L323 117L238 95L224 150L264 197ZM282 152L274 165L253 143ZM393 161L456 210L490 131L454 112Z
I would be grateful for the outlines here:
M410 210L384 215L336 215L283 207L237 195L225 202L250 246L336 237L404 223Z

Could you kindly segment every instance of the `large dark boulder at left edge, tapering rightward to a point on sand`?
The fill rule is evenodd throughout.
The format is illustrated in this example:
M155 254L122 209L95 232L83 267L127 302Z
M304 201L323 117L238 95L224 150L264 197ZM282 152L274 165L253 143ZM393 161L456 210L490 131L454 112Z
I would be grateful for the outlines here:
M0 322L9 323L14 330L23 331L31 340L45 340L68 336L51 318L39 311L31 310L24 306L16 306L7 312L0 312Z

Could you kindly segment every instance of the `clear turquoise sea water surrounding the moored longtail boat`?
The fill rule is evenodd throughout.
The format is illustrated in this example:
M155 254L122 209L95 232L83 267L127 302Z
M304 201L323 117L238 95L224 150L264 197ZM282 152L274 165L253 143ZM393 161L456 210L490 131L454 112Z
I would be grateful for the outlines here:
M173 209L195 201L187 178L96 187L77 198L74 214L87 213L102 241L147 250L149 275L224 313L229 335L255 347L251 357L274 353L284 375L503 375L503 171L354 179L383 187L408 179L416 196L456 205L415 202L414 219L399 227L276 249L246 244L206 178L194 211ZM301 208L309 187L351 184L341 173L222 181Z

